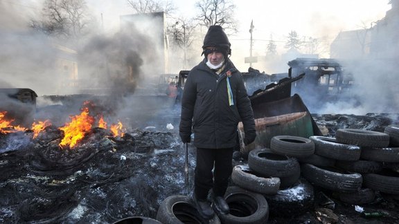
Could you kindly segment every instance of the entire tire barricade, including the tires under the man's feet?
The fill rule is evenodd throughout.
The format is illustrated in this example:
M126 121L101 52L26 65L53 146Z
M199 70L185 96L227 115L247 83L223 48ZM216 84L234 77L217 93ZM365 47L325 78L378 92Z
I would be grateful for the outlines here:
M384 133L338 129L335 138L274 136L270 149L254 149L247 165L233 167L225 200L230 214L204 221L189 196L163 200L161 223L267 223L296 216L314 205L314 187L364 205L382 192L399 198L399 126Z

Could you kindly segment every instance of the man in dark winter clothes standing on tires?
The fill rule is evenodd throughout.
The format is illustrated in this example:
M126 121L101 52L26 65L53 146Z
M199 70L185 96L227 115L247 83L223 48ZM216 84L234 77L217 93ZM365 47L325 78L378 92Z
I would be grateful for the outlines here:
M193 199L204 218L213 217L212 207L229 214L224 193L233 170L238 122L244 124L245 144L256 138L251 102L241 73L229 59L230 46L221 26L209 27L202 46L204 60L188 73L181 99L179 134L181 141L188 143L191 131L194 133L197 159Z

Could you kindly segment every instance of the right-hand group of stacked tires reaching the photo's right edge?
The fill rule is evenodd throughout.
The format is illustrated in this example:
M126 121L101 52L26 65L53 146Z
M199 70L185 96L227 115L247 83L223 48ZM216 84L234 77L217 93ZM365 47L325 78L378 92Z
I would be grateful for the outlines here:
M352 205L373 203L376 192L399 195L398 126L390 125L384 133L338 129L335 138L311 136L310 140L316 156L300 161L301 175L313 185ZM320 162L326 159L335 164Z

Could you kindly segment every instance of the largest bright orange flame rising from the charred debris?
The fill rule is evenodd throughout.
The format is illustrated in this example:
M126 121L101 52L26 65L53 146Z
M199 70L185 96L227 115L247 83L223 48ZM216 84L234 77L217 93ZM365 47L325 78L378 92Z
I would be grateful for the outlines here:
M69 145L69 148L75 147L76 143L85 137L85 134L91 131L94 124L94 118L89 115L89 109L84 108L80 115L71 116L71 122L60 127L64 131L64 138L60 142L60 147Z

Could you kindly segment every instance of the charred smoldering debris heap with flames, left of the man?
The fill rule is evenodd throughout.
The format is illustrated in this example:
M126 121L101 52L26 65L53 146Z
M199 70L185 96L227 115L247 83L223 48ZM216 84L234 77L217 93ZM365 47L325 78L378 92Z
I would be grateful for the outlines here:
M184 153L170 132L132 129L112 137L93 128L73 149L60 147L54 126L32 134L0 136L2 223L152 217L161 200L184 189Z

